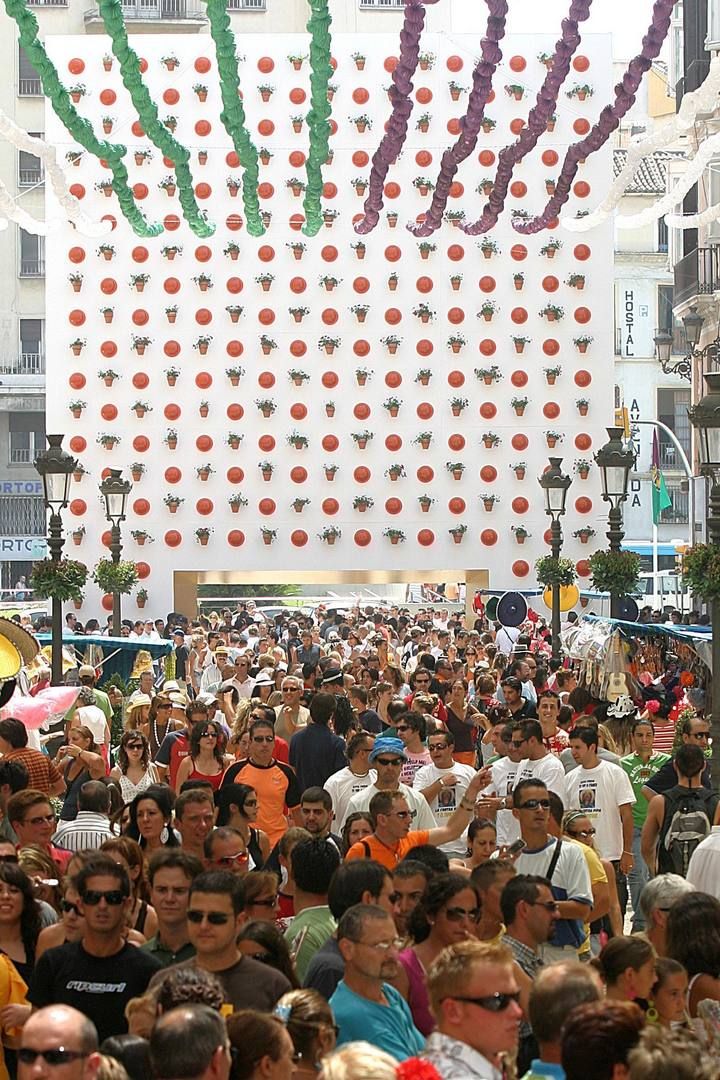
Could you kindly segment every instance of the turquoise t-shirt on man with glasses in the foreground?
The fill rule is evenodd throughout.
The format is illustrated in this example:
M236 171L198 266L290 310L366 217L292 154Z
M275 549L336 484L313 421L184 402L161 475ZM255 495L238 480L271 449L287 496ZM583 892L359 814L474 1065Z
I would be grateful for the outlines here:
M341 980L330 998L330 1009L339 1028L338 1045L362 1039L404 1062L406 1057L419 1054L425 1040L412 1023L403 995L388 983L382 984L382 993L388 1000L386 1005L362 998L345 985L344 978Z

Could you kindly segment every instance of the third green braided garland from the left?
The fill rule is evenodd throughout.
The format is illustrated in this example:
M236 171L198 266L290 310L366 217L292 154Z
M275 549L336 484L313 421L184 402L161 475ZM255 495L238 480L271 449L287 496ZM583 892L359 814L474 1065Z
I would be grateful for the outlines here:
M230 29L230 16L226 10L225 0L206 0L206 4L207 17L210 23L210 37L215 42L220 76L220 95L222 97L220 120L232 139L235 153L244 170L243 206L245 207L247 231L250 237L261 237L266 230L260 217L260 201L258 199L258 151L245 124L245 109L240 97L235 37Z

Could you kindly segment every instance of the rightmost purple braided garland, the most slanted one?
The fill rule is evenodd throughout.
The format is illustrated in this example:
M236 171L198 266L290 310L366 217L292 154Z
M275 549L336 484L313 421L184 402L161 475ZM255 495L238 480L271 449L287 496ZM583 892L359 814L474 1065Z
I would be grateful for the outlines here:
M633 107L642 76L650 69L655 57L660 55L663 42L670 29L674 6L673 0L655 0L652 22L648 27L648 33L642 39L642 51L630 60L623 76L623 81L615 86L614 104L604 107L589 135L580 143L574 143L568 149L555 194L547 202L542 214L528 221L513 221L513 228L516 232L527 235L547 229L549 222L565 206L570 197L570 188L581 159L589 158L592 153L604 146L612 132L619 126L620 121Z

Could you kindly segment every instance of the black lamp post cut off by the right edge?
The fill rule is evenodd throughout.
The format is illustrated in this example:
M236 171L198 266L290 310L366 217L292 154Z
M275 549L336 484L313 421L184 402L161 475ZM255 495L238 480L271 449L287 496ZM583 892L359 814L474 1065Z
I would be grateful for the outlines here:
M708 541L720 544L720 372L706 373L706 394L688 409L688 416L697 436L701 472L710 478L707 513ZM720 679L720 599L712 600L712 678L710 687L712 732L712 786L720 791L720 689L715 690L715 679ZM720 683L718 684L720 687Z

